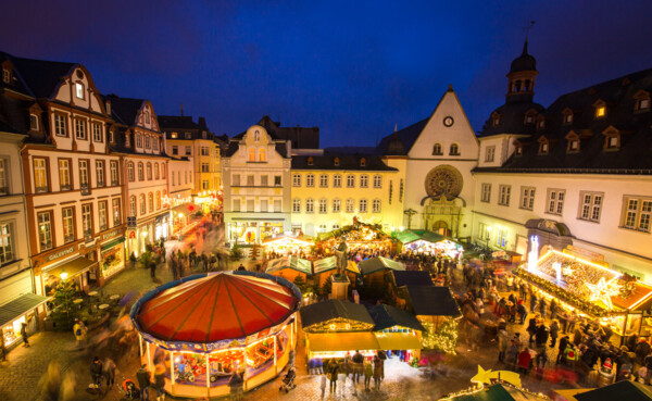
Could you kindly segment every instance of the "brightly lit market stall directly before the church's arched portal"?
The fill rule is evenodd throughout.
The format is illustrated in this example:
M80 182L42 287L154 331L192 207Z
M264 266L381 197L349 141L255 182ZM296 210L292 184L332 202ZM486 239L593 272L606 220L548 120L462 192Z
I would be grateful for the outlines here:
M452 238L424 229L406 229L396 235L403 252L456 259L464 251Z

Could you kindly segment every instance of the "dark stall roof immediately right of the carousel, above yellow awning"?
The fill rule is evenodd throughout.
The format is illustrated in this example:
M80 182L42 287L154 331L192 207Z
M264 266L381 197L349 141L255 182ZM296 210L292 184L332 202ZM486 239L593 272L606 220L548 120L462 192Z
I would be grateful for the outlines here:
M310 327L315 324L328 322L334 318L374 324L374 319L364 305L340 300L328 300L313 303L299 310L302 326Z

